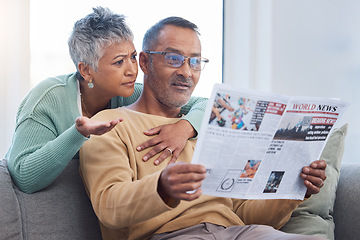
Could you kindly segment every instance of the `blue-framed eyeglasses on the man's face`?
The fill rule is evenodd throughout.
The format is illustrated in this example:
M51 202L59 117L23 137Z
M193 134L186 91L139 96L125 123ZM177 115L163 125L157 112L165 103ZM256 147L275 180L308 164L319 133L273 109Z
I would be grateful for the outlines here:
M209 62L208 59L202 57L186 57L184 55L174 52L156 52L156 51L144 51L149 54L162 54L164 55L165 63L170 67L181 67L185 59L189 59L189 65L192 70L201 71L204 69L205 64Z

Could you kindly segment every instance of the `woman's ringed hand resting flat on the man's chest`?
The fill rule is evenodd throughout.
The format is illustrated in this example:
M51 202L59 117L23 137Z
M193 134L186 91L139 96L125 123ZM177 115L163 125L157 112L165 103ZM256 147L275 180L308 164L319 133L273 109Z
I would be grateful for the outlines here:
M169 163L176 162L176 159L184 149L187 140L194 137L196 131L188 121L180 120L174 124L166 124L149 129L145 131L144 134L148 136L158 136L139 145L136 150L142 151L149 147L153 147L153 149L144 155L143 161L145 162L162 151L161 155L154 161L155 165L159 165L170 155L172 156Z

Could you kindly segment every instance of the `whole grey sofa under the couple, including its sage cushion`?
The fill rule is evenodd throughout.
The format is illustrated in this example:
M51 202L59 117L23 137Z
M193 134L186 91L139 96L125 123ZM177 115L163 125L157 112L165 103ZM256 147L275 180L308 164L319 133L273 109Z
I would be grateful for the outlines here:
M281 230L328 239L359 239L360 164L341 164L346 129L343 126L332 133L322 154L329 161L328 188L305 201L307 205L300 205ZM335 165L331 159L336 160ZM73 159L50 186L33 194L25 194L14 185L6 164L5 159L0 161L0 240L101 239L79 175L78 159ZM334 172L328 172L331 169Z

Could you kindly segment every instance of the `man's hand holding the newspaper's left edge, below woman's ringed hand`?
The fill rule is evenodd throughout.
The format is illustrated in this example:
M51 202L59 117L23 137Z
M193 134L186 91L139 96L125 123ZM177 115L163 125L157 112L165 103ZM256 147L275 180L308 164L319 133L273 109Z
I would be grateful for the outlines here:
M182 162L169 164L160 175L158 193L165 202L169 198L195 200L202 193L199 188L205 176L206 168L202 165Z

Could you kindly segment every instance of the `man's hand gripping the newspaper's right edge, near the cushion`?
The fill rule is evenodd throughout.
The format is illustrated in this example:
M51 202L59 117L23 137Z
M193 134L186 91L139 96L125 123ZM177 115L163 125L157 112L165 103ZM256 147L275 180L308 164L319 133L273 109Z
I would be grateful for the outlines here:
M304 179L304 184L307 188L305 197L308 198L312 194L320 192L320 188L324 186L326 179L325 175L326 162L324 160L317 160L310 164L309 167L303 167L300 177Z

